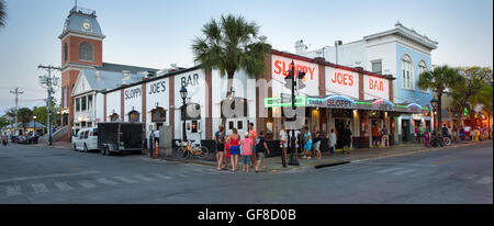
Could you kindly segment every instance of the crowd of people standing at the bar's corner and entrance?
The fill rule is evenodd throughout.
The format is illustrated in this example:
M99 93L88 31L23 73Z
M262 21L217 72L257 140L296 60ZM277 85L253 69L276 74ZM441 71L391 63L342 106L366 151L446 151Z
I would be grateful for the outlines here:
M337 137L341 139L343 154L350 154L350 126L347 125L340 136L337 136L334 128L330 129L326 138L332 156L335 155ZM240 161L242 170L245 172L249 172L250 169L259 172L261 165L262 169L266 169L266 156L270 155L271 150L268 147L263 132L258 134L252 123L249 123L249 132L244 134L243 139L236 128L233 128L232 134L227 135L225 127L220 125L218 131L214 135L214 140L216 143L217 170L229 169L237 171L239 169L238 161ZM299 152L301 152L301 158L303 159L321 159L323 157L321 152L323 135L317 127L311 133L308 126L305 126L302 132L299 129L288 132L283 126L279 134L279 140L285 158L288 157L287 151L292 144L295 148L296 160L299 160ZM293 143L290 140L293 140Z

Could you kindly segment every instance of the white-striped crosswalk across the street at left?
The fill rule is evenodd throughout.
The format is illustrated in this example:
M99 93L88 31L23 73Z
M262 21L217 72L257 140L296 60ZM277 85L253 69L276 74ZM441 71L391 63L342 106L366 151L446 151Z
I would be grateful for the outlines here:
M0 183L0 200L23 194L44 194L48 192L70 192L77 190L98 189L102 187L119 187L134 183L153 183L173 179L184 179L188 177L201 177L212 174L229 174L227 171L217 171L216 169L181 169L167 172L134 173L126 176L98 177L90 179L67 179L67 181L52 182L29 182L22 184Z

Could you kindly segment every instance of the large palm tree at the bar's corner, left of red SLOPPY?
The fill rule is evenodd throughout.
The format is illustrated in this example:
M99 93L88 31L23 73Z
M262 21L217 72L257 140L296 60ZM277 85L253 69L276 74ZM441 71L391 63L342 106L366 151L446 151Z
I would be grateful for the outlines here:
M202 33L204 37L195 37L192 44L194 61L205 72L217 68L222 78L227 75L226 98L232 95L235 71L244 69L256 79L262 76L271 45L265 36L259 36L259 26L255 22L247 22L242 15L222 15L218 21L211 19L204 24Z

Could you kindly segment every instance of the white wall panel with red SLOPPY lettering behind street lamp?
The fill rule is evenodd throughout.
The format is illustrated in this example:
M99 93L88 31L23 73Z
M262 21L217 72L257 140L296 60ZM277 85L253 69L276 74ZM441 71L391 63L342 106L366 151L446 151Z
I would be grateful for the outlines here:
M318 95L318 78L319 78L319 68L317 64L312 64L307 61L291 59L288 57L282 57L278 55L271 55L271 74L272 78L276 80L272 83L272 94L273 97L280 97L282 90L284 88L284 78L285 74L291 69L292 60L295 64L295 71L304 71L305 78L304 83L305 88L301 89L302 93L308 95ZM295 76L297 74L295 72Z

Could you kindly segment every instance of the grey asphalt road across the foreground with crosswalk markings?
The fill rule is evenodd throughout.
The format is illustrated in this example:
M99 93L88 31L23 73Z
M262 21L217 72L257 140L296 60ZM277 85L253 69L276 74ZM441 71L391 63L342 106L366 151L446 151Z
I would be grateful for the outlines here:
M493 203L492 143L279 173L0 147L0 203Z

